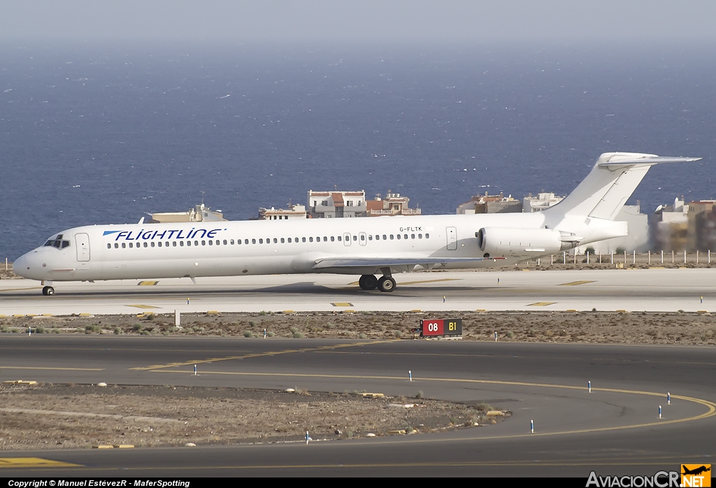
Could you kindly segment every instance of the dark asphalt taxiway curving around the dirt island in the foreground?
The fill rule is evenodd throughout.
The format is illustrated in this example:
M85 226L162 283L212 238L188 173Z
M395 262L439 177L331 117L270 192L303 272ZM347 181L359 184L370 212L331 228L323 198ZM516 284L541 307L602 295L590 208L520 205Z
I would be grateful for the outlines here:
M420 390L513 411L494 426L308 446L4 452L6 477L586 478L592 469L602 476L677 470L716 454L711 347L4 334L0 358L4 378L406 396ZM70 465L1 468L21 457Z

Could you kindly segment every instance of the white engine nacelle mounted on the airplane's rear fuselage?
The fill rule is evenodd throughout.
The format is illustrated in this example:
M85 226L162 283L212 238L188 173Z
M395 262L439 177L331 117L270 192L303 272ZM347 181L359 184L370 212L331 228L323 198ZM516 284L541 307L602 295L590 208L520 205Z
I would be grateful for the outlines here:
M475 237L480 250L492 257L551 254L574 247L554 229L485 227Z

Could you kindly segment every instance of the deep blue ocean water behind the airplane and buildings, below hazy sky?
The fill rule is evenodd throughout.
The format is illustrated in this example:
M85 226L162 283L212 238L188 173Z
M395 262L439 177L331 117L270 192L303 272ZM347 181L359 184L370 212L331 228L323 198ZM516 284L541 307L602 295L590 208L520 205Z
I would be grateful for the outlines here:
M425 214L566 194L601 152L697 156L630 202L716 197L716 47L0 44L0 258L58 230L313 190Z

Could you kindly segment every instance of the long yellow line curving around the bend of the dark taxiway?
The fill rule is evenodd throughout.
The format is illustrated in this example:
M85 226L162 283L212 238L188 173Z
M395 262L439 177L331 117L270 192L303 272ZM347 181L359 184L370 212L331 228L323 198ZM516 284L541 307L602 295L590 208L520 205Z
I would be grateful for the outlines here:
M193 371L166 371L159 370L155 373L193 373ZM405 381L403 376L353 376L348 374L301 374L301 373L243 373L234 371L202 371L202 374L222 374L222 375L233 375L233 376L291 376L296 378L332 378L332 379L377 379L377 380L399 380ZM488 385L506 385L506 386L526 386L531 388L556 388L566 390L582 390L584 386L571 386L571 385L558 385L548 383L527 383L525 381L499 381L499 380L487 380L487 379L460 379L460 378L418 378L413 376L413 381L439 381L442 383L472 383L472 384L488 384ZM624 393L633 395L646 395L646 396L658 396L663 398L662 392L654 391L640 391L640 390L625 390L616 388L592 388L591 391L607 391L609 393ZM692 396L672 395L672 399L679 399L684 401L690 401L695 404L700 404L707 407L707 411L703 414L685 417L684 419L673 419L647 422L644 424L633 424L625 426L613 426L613 427L598 427L595 429L576 429L569 431L555 431L555 432L541 432L537 434L512 434L507 436L486 436L486 437L474 437L474 438L461 438L461 439L448 439L448 440L476 440L476 439L516 439L521 437L533 437L533 436L555 436L563 434L586 434L587 432L604 432L624 429L637 429L640 427L652 427L661 426L667 424L680 424L682 422L690 422L696 420L707 419L710 416L716 415L716 404L712 401L697 399ZM442 439L442 442L448 441ZM416 439L412 442L430 442L430 439ZM380 441L377 441L380 443Z

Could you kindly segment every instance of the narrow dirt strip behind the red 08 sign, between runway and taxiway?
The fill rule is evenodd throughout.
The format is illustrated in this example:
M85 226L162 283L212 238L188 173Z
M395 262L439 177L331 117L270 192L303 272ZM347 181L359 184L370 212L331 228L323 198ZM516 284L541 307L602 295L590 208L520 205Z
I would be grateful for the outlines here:
M462 318L463 338L473 341L627 344L716 344L716 315L663 312L447 312ZM410 339L420 320L435 313L306 312L185 313L140 316L0 317L1 333L135 334L142 336L243 336ZM1 336L0 336L1 337Z

